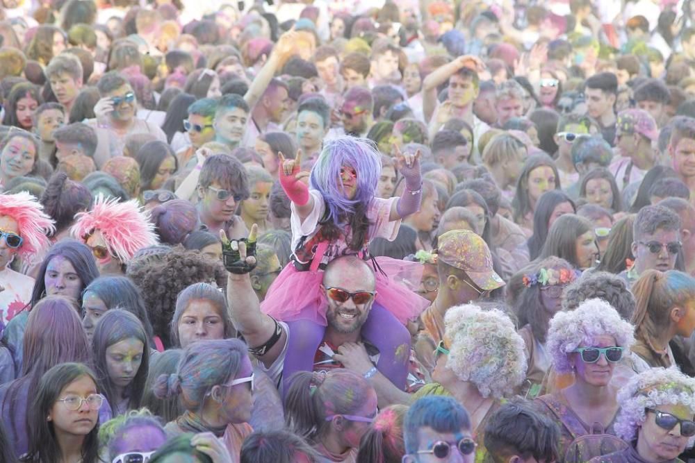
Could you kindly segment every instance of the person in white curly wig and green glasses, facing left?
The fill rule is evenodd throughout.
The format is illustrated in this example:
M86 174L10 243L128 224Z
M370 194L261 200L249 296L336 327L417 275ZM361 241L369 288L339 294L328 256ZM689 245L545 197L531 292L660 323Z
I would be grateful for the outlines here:
M523 339L509 316L496 308L466 304L450 308L444 338L436 347L433 383L414 398L452 396L471 417L476 461L484 461L484 429L489 417L521 383L526 371Z

